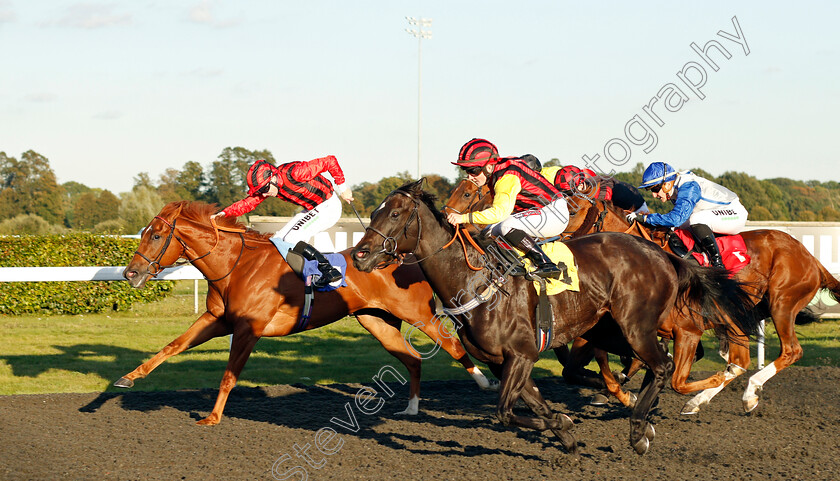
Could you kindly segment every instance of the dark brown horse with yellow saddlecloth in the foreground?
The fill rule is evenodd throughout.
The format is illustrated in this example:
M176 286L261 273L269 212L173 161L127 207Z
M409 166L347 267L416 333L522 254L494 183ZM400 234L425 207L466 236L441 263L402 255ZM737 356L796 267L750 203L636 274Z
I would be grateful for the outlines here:
M462 242L462 247L446 249L458 231L435 208L435 199L422 190L422 182L406 184L385 198L352 250L353 263L361 271L375 272L413 253L429 284L456 313L458 334L467 350L501 379L499 420L504 425L551 430L569 452L578 455L577 442L568 432L571 420L551 411L530 377L539 357L533 315L538 295L532 283L521 277L499 281L489 268L472 270L469 266L487 261L472 245ZM694 309L710 320L724 315L745 320L742 330L753 333L746 327L751 316L744 309L744 292L724 271L692 266L636 237L598 234L567 245L579 265L580 291L549 296L555 332L550 347L591 335L596 345L631 353L647 364L630 417L630 444L643 454L655 435L647 415L673 368L658 342L657 327L669 316ZM490 296L485 287L492 286L499 290L491 302L482 303ZM482 293L477 294L477 289ZM596 324L600 329L591 330ZM596 331L597 336L592 334ZM514 414L518 399L537 417Z

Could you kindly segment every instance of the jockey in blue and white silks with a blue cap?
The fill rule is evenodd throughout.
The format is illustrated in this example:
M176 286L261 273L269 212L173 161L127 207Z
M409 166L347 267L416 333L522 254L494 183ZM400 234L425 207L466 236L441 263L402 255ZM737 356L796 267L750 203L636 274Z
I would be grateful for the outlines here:
M691 171L677 172L665 162L654 162L645 169L642 185L654 198L671 201L667 214L630 214L652 226L689 228L700 247L716 267L723 267L714 234L738 234L747 223L747 209L731 190Z

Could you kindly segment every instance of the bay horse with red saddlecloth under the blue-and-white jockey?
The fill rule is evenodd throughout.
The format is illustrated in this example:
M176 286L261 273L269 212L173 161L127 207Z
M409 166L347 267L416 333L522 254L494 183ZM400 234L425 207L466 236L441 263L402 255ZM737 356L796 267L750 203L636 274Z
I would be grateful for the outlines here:
M576 235L625 232L652 239L671 252L667 241L669 229L651 229L636 222L630 225L622 211L610 203L580 202L579 210L569 220L568 231L576 232ZM742 397L744 410L750 412L758 405L758 392L764 383L802 358L802 346L794 328L797 321L813 320L813 314L805 307L821 289L829 290L834 299L840 299L840 282L801 242L785 232L749 230L742 232L741 237L751 261L735 275L735 279L748 286L747 291L758 315L773 319L781 344L779 357L750 377ZM748 344L731 343L728 352L721 354L729 363L723 384L697 394L683 408L684 414L699 412L702 405L711 401L735 377L749 368Z

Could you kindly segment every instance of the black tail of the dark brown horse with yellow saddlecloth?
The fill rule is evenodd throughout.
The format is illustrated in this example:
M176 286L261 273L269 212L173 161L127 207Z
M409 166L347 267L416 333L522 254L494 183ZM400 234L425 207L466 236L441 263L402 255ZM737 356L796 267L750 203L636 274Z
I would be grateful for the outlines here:
M670 254L668 258L679 279L678 308L699 313L734 342L743 342L743 337L732 325L749 337L758 334L761 317L755 314L755 303L744 283L732 279L723 269L701 267Z

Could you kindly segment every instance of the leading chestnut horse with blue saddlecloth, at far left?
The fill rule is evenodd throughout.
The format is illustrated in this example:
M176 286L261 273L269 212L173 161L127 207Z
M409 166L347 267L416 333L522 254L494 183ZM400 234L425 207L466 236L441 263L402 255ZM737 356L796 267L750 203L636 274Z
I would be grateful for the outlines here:
M115 385L132 387L167 358L214 337L233 334L227 369L213 411L198 424L217 424L228 394L260 337L286 336L355 316L382 346L399 359L410 374L409 405L404 414L416 414L420 396L418 353L400 334L403 321L426 333L457 359L479 386L491 388L487 378L469 359L457 339L447 336L435 316L429 284L417 266L400 266L373 274L361 273L349 262L347 286L318 292L308 322L304 317L304 283L269 240L222 217L211 225L215 206L199 202L173 202L143 231L140 246L123 276L133 287L143 287L163 267L184 258L208 279L207 311L187 331L169 343ZM173 242L177 241L177 242Z

